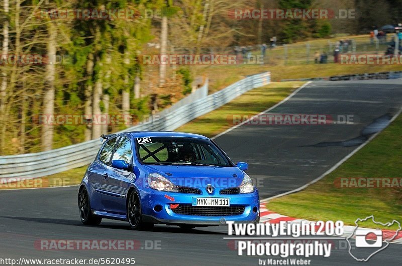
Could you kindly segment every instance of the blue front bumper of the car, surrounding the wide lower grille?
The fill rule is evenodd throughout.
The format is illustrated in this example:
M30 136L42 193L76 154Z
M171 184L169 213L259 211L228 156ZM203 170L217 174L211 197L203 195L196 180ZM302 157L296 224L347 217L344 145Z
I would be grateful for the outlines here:
M226 221L258 222L259 196L258 191L247 194L220 195L186 194L177 192L158 191L145 188L140 191L142 218L144 222L163 224L196 224L196 225L225 225ZM243 213L239 215L204 216L174 213L170 204L191 204L193 197L230 198L231 206L244 206Z

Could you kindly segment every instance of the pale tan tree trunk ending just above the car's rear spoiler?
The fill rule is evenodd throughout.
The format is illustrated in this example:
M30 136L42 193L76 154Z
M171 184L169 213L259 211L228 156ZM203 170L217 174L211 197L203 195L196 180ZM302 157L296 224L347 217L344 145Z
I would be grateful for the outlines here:
M102 111L100 111L100 99L103 92L102 62L100 62L100 58L96 58L96 62L98 62L100 70L92 93L92 139L99 138L102 134L102 125L99 123L100 115L102 115Z

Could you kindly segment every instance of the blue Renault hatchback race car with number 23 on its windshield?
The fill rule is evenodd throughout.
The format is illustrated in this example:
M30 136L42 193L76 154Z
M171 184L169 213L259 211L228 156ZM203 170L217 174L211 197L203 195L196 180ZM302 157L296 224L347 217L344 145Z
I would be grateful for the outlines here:
M178 132L102 136L78 191L84 224L102 218L132 229L259 222L259 197L247 163L236 165L211 139Z

